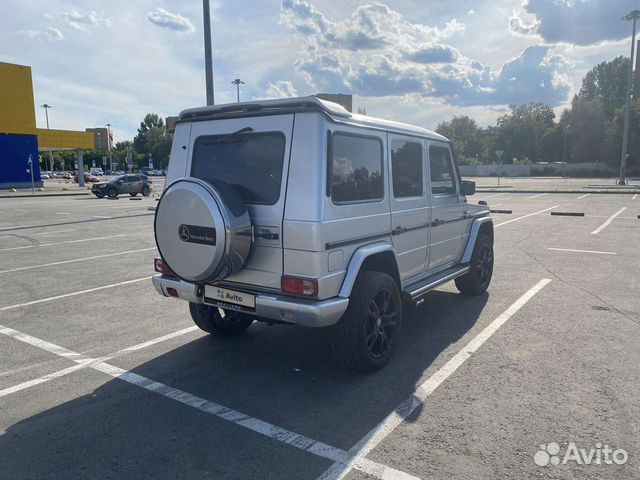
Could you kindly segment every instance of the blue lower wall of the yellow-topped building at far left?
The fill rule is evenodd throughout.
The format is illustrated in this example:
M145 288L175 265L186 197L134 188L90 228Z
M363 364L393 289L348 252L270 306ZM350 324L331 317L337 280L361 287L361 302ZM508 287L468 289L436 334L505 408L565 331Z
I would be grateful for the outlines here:
M38 137L0 133L0 188L31 186L31 173L27 163L31 155L33 161L33 180L37 186L40 179L38 161Z

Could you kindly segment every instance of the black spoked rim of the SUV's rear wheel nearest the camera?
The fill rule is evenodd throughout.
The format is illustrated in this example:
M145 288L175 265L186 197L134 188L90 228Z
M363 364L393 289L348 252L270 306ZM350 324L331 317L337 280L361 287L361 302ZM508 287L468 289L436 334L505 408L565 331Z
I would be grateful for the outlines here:
M390 290L376 293L367 311L366 345L373 358L384 357L391 344L397 324L398 307Z

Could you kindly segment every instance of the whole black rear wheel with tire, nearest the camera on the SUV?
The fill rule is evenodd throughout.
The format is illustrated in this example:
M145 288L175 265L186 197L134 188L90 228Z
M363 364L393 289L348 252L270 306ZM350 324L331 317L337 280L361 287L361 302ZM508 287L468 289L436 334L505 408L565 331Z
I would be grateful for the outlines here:
M393 278L386 273L360 272L347 311L332 327L333 353L348 368L379 370L393 353L401 324L402 301Z

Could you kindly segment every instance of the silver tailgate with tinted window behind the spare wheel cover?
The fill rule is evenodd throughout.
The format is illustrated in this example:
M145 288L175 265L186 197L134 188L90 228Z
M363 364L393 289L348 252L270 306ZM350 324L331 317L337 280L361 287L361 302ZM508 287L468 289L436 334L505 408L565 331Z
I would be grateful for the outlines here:
M192 124L185 175L234 187L254 227L247 263L225 282L280 290L282 220L293 119L289 114Z

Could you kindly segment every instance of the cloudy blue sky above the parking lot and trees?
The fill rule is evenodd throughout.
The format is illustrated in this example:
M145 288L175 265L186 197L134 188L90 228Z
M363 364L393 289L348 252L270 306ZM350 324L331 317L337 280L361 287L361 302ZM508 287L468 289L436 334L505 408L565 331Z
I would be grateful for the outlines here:
M596 64L630 54L640 0L211 0L215 102L351 93L354 109L435 129L509 104L560 113ZM32 67L51 128L205 104L202 2L0 0L0 62ZM38 127L45 127L36 108Z

